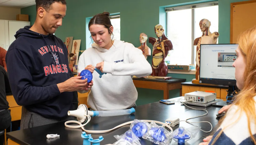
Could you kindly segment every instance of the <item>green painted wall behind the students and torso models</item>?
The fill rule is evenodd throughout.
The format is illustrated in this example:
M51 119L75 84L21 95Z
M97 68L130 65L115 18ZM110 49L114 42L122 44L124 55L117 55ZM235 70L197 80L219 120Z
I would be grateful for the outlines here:
M148 37L156 37L154 26L162 24L166 27L166 6L187 5L192 3L208 2L214 0L109 0L109 1L85 1L85 0L66 0L67 12L63 19L63 24L58 28L55 35L65 41L66 37L73 36L74 39L81 39L80 50L85 50L91 44L86 41L89 38L86 21L88 17L108 11L109 13L120 13L121 17L121 40L133 43L135 47L140 45L139 34L146 33ZM243 0L219 0L219 43L229 43L230 40L230 3ZM34 6L21 9L21 14L29 14L31 24L36 17ZM214 13L214 12L213 12ZM87 20L86 20L87 18ZM87 31L87 33L86 33ZM87 42L87 43L86 43ZM148 44L152 48L151 44ZM175 49L175 48L174 48ZM149 63L152 57L148 57ZM191 81L195 75L168 74L174 78L185 78ZM163 91L137 88L137 104L146 104L162 99ZM170 91L170 98L179 96L179 90Z

